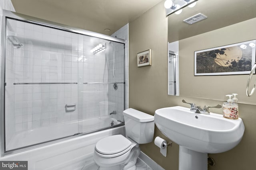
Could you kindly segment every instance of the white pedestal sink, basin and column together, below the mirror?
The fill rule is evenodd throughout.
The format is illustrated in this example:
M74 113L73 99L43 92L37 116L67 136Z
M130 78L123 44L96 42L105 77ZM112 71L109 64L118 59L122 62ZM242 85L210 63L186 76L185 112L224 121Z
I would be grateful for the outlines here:
M207 153L234 148L244 134L241 118L204 115L181 106L157 109L154 121L166 137L180 145L179 170L207 170Z

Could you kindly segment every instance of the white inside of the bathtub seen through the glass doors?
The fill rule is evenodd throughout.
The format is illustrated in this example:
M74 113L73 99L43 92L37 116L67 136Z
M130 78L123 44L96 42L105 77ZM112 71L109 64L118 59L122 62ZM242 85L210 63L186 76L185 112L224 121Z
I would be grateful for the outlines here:
M6 145L6 150L22 148L45 141L70 137L80 133L92 133L93 131L106 129L110 126L120 124L109 115L94 117L82 121L71 121L68 123L60 123L47 127L40 127L28 131L14 133L11 141ZM22 140L21 140L22 139Z

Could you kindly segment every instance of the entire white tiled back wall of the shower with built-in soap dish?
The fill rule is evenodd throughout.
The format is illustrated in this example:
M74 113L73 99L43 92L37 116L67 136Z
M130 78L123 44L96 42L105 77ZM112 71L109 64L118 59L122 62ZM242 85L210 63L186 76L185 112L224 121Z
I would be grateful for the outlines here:
M16 132L108 113L108 86L83 84L108 80L104 52L88 52L91 37L22 21L10 20L10 25L24 44L14 50L16 83L78 82L78 86L16 85ZM66 112L66 104L79 105Z

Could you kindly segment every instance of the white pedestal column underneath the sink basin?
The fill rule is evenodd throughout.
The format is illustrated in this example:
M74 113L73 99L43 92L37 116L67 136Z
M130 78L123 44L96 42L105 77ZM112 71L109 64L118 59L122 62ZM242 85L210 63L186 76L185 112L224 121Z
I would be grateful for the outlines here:
M207 153L180 146L179 170L207 170Z

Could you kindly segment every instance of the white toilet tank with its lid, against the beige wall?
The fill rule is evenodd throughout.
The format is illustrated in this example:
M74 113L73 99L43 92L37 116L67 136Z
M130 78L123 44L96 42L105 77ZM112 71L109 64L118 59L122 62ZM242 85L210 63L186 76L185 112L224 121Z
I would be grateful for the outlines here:
M139 144L153 141L154 116L132 108L124 110L123 115L127 137Z

